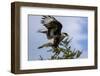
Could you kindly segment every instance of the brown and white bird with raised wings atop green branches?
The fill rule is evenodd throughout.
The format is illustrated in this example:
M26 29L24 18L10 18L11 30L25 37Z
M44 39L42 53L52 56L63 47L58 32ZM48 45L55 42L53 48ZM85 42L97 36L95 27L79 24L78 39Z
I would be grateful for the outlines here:
M57 48L59 43L68 36L67 33L61 32L62 24L53 16L43 16L41 23L46 30L39 30L38 32L46 34L48 42L38 47L39 49L43 47Z

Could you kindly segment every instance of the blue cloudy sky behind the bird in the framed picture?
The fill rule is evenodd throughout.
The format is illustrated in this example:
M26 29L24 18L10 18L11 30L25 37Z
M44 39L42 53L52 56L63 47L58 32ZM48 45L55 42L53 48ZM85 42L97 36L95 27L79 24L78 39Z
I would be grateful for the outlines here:
M80 58L88 57L88 18L78 16L54 16L62 24L62 32L69 34L72 41L72 49L82 51ZM40 55L47 59L52 52L47 52L50 48L38 49L39 46L47 42L45 34L38 33L44 29L41 24L42 16L28 16L28 60L39 60Z

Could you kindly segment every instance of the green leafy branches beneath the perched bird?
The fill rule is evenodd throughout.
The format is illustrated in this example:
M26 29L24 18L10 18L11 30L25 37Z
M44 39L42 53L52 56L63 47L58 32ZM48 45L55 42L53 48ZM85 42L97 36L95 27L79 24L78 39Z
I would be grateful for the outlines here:
M71 47L71 41L72 39L69 39L69 37L65 38L62 40L59 44L59 47L53 48L47 50L47 52L52 52L53 55L51 55L48 60L53 60L53 59L76 59L79 58L82 54L80 50L72 49ZM45 60L41 55L40 55L40 60Z

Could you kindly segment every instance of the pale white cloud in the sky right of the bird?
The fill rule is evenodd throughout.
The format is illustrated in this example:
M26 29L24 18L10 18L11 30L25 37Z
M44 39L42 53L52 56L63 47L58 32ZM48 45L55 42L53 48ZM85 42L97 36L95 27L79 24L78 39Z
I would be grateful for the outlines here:
M61 17L59 21L63 25L63 32L67 32L72 39L71 45L76 49L83 49L83 46L79 44L79 41L86 40L87 34L82 34L82 25L86 20L82 17ZM85 25L86 26L86 25Z

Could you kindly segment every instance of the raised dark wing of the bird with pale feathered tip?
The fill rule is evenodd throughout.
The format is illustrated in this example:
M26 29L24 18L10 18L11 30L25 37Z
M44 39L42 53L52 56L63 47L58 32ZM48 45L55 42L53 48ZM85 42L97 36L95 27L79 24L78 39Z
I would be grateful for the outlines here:
M43 16L41 23L47 28L46 35L48 39L61 35L62 24L53 16Z

